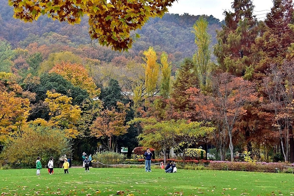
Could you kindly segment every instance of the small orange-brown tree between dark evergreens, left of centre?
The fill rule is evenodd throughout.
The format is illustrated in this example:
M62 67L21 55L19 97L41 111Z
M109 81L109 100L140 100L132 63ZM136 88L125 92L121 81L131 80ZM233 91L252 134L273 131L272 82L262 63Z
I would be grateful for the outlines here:
M103 143L114 151L120 135L127 133L129 125L125 124L125 117L129 105L117 102L117 108L103 110L91 125L91 135L102 138Z

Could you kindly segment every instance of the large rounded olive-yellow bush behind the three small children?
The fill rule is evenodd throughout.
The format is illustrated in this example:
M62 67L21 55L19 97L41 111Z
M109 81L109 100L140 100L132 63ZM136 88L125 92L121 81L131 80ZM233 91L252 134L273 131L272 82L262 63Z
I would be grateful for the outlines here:
M37 157L42 165L47 165L49 158L54 161L70 151L69 140L58 129L32 126L23 130L21 137L15 138L1 153L0 159L7 160L12 167L35 166Z

